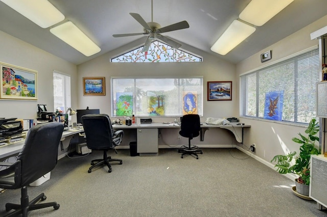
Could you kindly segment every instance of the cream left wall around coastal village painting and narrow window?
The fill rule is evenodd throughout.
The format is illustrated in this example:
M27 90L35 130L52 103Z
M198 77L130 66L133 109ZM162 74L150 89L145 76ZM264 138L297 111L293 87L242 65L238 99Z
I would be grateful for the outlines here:
M54 112L53 70L71 75L72 106L77 106L77 67L31 44L0 31L0 62L37 71L37 100L0 99L0 117L35 119L37 104L46 104Z

